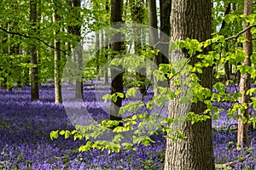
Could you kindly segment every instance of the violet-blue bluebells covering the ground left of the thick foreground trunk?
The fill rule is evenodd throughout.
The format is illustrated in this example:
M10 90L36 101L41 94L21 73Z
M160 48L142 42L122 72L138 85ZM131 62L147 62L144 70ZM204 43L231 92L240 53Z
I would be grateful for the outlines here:
M104 118L94 90L84 92L84 105L95 119ZM56 129L73 130L63 105L54 104L54 87L40 87L41 101L30 102L29 87L11 92L0 89L0 117L9 127L0 128L0 169L161 169L165 139L154 137L155 144L137 150L79 152L84 140L49 139Z

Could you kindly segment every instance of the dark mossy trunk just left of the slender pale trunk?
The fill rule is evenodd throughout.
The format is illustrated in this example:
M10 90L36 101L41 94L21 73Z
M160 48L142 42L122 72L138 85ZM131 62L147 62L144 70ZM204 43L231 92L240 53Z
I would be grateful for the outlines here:
M37 16L37 0L30 1L30 20L32 21L31 33L36 34L36 24L38 20ZM30 55L31 55L31 100L39 99L39 89L38 89L38 54L35 44L30 45Z

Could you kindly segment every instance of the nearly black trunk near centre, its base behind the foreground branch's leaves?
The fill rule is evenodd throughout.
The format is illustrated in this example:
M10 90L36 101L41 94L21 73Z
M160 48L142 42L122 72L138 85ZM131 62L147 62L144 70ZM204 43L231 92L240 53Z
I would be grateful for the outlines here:
M114 29L119 29L120 26L116 24L121 24L122 23L122 13L123 13L123 1L122 0L111 0L111 25ZM115 25L115 26L113 26ZM113 35L112 37L112 42L111 42L111 50L112 50L112 58L116 57L114 56L115 54L120 54L123 51L123 40L122 33L118 32ZM124 87L123 87L123 74L119 73L118 75L117 72L118 70L115 70L113 68L110 69L111 73L111 94L115 93L123 93ZM117 100L114 102L113 100L111 101L111 106L110 106L110 120L116 120L116 121L121 121L122 117L119 116L119 108L122 106L122 99L117 98ZM122 123L119 123L119 126L121 126Z

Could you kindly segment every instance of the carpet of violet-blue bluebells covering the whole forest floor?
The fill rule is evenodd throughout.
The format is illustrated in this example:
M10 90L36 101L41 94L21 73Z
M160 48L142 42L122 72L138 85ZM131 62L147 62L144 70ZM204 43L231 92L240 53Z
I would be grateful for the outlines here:
M95 119L102 119L105 111L96 106L95 89L88 87L84 90L84 104ZM40 98L30 102L29 87L9 92L0 89L0 117L9 124L1 123L0 127L0 169L163 169L166 141L161 134L152 136L155 143L148 147L139 145L137 150L110 154L107 150L79 152L84 140L49 139L53 130L74 127L64 106L54 103L53 84L40 86ZM228 110L232 104L214 105ZM256 132L250 132L249 149L236 150L236 125L232 124L236 120L226 116L226 111L212 122L216 164L221 167L235 161L233 169L256 169Z

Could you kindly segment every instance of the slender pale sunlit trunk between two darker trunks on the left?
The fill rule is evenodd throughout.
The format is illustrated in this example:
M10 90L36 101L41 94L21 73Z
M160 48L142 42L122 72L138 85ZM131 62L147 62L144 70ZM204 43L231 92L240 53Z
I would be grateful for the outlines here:
M54 3L54 2L53 2ZM57 11L54 7L52 14L52 21L53 23L58 22L61 20L61 17L57 14ZM56 26L54 35L56 36L61 26ZM55 39L55 103L60 104L62 103L62 94L61 94L61 42L58 39Z

